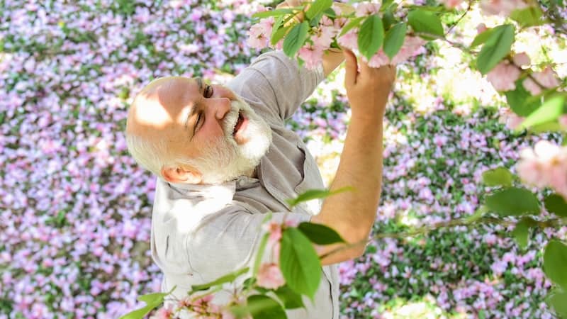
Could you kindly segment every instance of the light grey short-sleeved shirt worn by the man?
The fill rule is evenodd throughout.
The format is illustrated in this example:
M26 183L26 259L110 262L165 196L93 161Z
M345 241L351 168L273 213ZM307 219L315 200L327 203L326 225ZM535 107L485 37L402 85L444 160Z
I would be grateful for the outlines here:
M322 189L322 179L305 144L284 124L324 78L322 68L300 68L281 51L260 55L228 87L270 125L273 140L257 167L258 178L241 177L222 185L169 184L157 180L152 212L152 257L164 272L162 291L176 286L176 298L191 285L204 284L254 262L265 213L272 220L310 220L320 210L311 201L290 211L286 199ZM290 213L291 212L291 213ZM288 318L338 319L336 266L322 267L315 302L288 310ZM220 291L215 301L230 301Z

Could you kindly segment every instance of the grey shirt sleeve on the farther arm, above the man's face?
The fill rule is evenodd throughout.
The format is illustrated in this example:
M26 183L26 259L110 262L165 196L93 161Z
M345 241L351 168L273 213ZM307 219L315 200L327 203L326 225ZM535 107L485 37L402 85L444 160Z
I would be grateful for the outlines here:
M299 67L282 51L257 57L228 84L236 94L269 108L271 116L286 120L295 113L325 78L322 67Z

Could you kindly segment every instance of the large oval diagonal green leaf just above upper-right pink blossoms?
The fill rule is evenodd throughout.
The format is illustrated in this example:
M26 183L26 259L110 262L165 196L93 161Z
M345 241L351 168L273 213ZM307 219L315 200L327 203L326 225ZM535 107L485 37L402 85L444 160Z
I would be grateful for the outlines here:
M476 67L481 74L487 74L510 52L514 43L514 26L497 26L488 36L481 52L478 53Z

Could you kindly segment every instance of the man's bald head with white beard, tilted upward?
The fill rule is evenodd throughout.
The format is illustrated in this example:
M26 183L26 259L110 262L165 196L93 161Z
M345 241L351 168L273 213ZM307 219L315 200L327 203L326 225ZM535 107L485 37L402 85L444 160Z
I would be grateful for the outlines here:
M270 141L269 126L245 101L201 79L157 79L128 110L128 150L142 167L174 183L249 175Z

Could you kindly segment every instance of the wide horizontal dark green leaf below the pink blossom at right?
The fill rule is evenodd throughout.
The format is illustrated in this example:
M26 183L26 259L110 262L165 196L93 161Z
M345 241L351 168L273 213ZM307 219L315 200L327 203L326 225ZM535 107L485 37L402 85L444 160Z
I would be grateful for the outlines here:
M500 216L539 214L539 201L527 189L510 187L495 191L486 197L485 205Z

